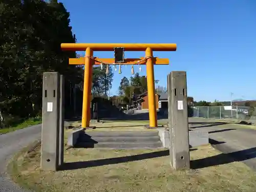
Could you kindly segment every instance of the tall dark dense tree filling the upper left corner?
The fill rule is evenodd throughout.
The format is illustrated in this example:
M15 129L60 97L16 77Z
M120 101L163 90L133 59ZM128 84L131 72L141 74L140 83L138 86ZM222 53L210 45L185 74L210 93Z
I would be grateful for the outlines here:
M59 72L73 84L82 80L83 70L68 65L76 53L60 49L62 42L74 42L69 16L56 1L1 1L0 110L5 116L40 114L43 72Z

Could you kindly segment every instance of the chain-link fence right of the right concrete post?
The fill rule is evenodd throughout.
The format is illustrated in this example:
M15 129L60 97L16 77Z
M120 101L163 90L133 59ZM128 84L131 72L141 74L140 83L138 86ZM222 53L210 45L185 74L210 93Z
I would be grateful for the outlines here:
M250 106L193 106L193 117L256 121L256 108Z

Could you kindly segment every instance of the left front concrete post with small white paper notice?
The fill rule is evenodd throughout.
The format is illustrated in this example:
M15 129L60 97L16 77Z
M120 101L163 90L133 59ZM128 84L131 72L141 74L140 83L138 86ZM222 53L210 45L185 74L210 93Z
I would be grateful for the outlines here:
M46 72L42 81L41 169L57 170L59 161L60 76Z

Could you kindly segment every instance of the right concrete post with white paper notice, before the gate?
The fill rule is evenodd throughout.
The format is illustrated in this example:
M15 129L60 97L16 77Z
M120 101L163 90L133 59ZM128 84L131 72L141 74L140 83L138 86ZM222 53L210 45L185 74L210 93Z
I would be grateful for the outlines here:
M168 111L170 134L170 164L174 169L189 169L189 137L187 117L186 72L168 75ZM170 101L170 102L169 102Z

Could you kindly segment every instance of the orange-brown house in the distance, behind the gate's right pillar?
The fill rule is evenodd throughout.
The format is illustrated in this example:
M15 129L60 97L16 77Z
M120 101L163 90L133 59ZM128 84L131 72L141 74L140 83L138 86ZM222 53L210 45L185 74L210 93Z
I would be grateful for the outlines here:
M155 94L156 97L156 108L168 108L168 96L167 94ZM147 92L138 95L134 105L141 110L148 110L148 96Z

